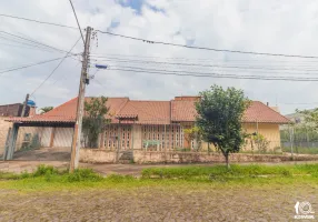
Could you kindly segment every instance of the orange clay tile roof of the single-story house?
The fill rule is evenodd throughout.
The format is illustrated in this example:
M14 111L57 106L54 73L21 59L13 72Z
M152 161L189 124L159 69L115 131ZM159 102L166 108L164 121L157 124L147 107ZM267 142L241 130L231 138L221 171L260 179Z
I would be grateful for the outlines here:
M86 98L89 101L90 98ZM107 118L112 123L137 123L137 124L170 124L171 122L192 122L196 120L196 97L187 99L177 98L171 101L139 101L129 98L109 98L107 107L110 108ZM32 118L11 118L11 122L68 122L76 119L77 98L54 108L53 110L34 115ZM135 121L132 119L136 119ZM289 123L289 120L270 109L266 104L254 101L244 115L244 122L260 123Z

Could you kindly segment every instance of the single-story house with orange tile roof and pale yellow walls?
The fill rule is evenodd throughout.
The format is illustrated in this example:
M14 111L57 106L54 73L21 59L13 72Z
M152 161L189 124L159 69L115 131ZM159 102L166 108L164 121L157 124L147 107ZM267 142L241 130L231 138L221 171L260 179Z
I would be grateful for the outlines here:
M89 101L90 98L86 98ZM100 134L99 148L108 150L151 149L170 150L196 148L185 138L185 129L191 128L196 120L198 97L176 97L170 101L143 101L129 98L108 98L110 120ZM31 118L10 118L17 127L37 129L42 147L71 147L76 119L77 98L53 110ZM270 143L269 150L280 147L279 125L289 120L276 110L259 101L252 101L246 110L244 129L247 133L260 133ZM26 131L24 131L26 132ZM34 131L33 131L34 133ZM82 137L85 145L85 137ZM202 143L202 148L208 144ZM247 141L245 149L252 143ZM16 150L19 148L16 148Z

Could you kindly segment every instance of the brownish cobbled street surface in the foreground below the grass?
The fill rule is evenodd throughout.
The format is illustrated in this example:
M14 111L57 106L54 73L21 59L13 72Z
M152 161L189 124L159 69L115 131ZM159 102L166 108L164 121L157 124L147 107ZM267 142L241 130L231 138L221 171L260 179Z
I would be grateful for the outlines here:
M0 193L0 221L291 221L297 201L318 209L317 188L290 188Z

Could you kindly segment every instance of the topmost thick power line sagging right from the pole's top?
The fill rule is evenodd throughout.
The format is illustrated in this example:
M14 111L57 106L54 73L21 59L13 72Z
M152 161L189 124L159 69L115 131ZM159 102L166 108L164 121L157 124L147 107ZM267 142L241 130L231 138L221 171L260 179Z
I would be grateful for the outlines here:
M170 43L170 42L163 42L163 41L155 41L155 40L148 40L148 39L141 39L137 37L130 37L125 34L118 34L112 33L109 31L101 31L97 30L100 33L110 34L115 37L121 37L126 39L142 41L147 43L152 44L165 44L165 46L172 46L172 47L182 47L188 49L198 49L198 50L208 50L208 51L216 51L216 52L231 52L231 53L241 53L241 54L257 54L257 56L270 56L270 57L290 57L290 58L304 58L304 59L318 59L316 56L300 56L300 54L282 54L282 53L267 53L267 52L254 52L254 51L240 51L240 50L228 50L228 49L215 49L215 48L207 48L207 47L192 47L187 44L178 44L178 43Z

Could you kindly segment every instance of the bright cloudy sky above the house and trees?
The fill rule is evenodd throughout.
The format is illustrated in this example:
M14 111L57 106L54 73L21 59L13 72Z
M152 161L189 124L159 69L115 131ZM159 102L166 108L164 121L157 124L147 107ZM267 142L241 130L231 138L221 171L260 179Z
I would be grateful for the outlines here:
M153 72L172 70L181 74L309 78L317 74L317 59L177 48L96 31L215 49L318 56L317 1L73 0L73 6L81 28L90 26L95 29L89 70L93 79L87 85L87 97L171 100L178 95L197 95L210 85L219 84L241 89L249 99L277 105L284 114L318 105L318 82L161 75ZM68 0L1 1L0 14L77 27ZM38 108L57 107L77 97L81 69L79 57L67 58L40 88L60 60L1 73L10 68L66 56L66 52L34 48L33 43L3 31L64 51L69 51L80 38L77 29L0 16L0 104L22 102L26 94L36 89L31 100ZM82 51L80 39L72 52ZM96 72L96 64L108 65L108 70ZM151 69L152 72L116 70L131 67L133 70Z

